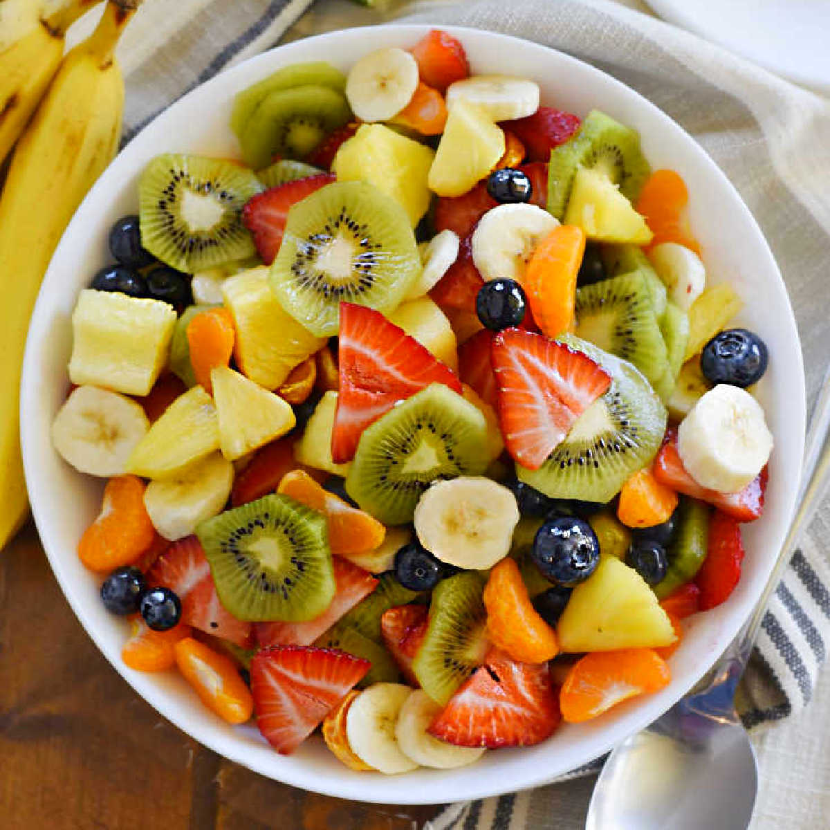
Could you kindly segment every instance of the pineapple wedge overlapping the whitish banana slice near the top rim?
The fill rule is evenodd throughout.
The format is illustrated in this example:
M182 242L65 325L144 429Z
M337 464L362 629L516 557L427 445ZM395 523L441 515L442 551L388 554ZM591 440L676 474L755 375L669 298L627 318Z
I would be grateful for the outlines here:
M505 134L481 107L466 100L452 105L429 170L429 187L439 196L461 196L496 167L505 154Z

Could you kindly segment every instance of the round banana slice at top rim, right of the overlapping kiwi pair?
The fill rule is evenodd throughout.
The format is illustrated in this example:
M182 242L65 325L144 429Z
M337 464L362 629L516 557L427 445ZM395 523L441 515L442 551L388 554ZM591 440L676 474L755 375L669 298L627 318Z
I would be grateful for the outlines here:
M412 100L417 81L417 63L408 51L378 49L352 66L346 98L361 121L387 121Z

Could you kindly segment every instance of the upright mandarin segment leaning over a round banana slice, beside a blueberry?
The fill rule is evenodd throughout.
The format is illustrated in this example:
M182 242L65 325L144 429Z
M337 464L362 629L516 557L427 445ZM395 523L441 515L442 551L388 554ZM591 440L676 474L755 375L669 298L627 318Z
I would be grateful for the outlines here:
M574 325L576 279L584 253L582 228L559 225L530 257L522 282L536 325L550 338Z

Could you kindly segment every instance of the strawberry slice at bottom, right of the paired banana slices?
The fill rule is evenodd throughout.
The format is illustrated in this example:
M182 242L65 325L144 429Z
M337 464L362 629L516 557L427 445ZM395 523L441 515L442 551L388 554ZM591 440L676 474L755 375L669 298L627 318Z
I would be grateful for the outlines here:
M492 649L427 731L456 746L532 746L561 719L548 664L515 662Z

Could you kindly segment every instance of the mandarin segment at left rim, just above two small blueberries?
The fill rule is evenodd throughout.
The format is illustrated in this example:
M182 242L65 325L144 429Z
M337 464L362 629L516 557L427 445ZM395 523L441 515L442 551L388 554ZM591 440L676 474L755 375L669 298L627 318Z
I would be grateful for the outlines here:
M133 564L155 538L144 508L144 482L137 476L116 476L107 482L98 518L81 536L78 556L90 570L110 571Z

